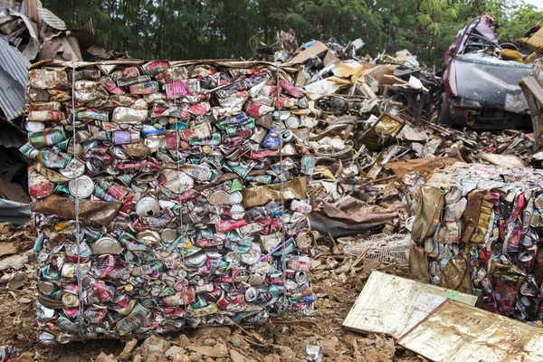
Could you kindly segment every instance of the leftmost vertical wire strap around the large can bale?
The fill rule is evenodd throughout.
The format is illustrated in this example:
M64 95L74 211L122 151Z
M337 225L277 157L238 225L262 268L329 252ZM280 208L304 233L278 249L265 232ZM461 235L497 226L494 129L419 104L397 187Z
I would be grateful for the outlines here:
M71 66L71 131L72 131L72 139L73 139L73 157L77 155L77 149L76 149L76 141L75 141L75 65ZM75 165L75 160L74 160ZM83 333L83 288L81 283L81 242L83 241L83 238L81 237L81 225L79 221L79 214L80 214L80 208L79 208L79 195L78 193L74 193L75 197L75 240L77 243L76 251L77 251L77 269L76 269L76 275L77 275L77 290L78 290L78 298L79 298L79 313L78 313L78 319L79 319L79 334L81 339L85 338L85 334Z

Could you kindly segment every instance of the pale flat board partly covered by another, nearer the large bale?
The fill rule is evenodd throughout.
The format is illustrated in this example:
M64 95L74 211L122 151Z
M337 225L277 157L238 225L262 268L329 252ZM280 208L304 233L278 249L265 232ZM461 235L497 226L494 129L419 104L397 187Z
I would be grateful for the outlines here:
M343 327L400 338L447 299L475 305L477 297L373 271Z

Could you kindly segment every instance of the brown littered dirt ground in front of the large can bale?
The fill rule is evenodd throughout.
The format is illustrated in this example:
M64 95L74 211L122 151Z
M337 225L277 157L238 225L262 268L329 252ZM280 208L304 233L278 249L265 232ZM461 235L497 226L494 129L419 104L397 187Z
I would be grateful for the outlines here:
M28 247L25 238L33 238L32 231L25 229L20 233L21 248ZM319 249L322 253L316 258L311 276L318 297L313 316L282 314L252 328L205 328L131 343L95 340L55 347L36 344L34 266L28 263L21 270L27 276L22 288L0 287L0 344L13 345L21 355L18 360L25 362L303 361L308 344L322 346L325 361L423 360L395 345L393 338L353 333L341 327L371 270L405 275L405 269L375 262L353 268L353 258L346 257L340 247L332 249L325 241L319 244Z

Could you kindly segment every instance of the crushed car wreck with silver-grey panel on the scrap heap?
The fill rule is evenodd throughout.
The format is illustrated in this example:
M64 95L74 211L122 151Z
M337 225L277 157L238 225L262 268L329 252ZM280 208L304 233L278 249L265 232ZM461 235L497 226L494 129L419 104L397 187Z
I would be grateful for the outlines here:
M445 52L440 121L473 129L529 126L529 107L519 81L532 65L512 43L498 43L490 16L473 19ZM515 59L515 60L513 60Z

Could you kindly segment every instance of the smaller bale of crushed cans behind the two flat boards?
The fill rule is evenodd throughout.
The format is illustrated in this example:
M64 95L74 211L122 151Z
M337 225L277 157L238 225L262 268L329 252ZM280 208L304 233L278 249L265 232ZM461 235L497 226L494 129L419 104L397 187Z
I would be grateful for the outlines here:
M543 173L457 163L420 188L410 252L414 277L480 295L478 305L543 319Z

